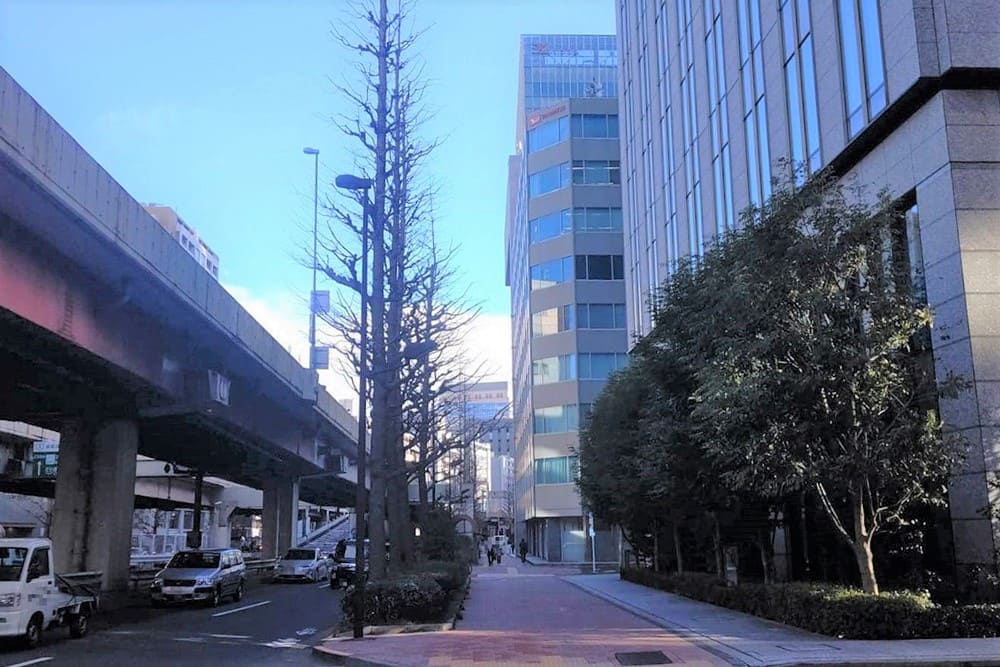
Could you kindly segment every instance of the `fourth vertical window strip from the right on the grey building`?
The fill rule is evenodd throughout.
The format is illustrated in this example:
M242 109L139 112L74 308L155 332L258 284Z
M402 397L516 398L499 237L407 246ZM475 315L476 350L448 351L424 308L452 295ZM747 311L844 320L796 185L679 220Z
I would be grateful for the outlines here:
M715 185L715 231L733 229L733 167L729 156L729 114L726 93L726 58L722 46L722 5L705 0L705 52L708 57L708 124L712 137L712 175Z

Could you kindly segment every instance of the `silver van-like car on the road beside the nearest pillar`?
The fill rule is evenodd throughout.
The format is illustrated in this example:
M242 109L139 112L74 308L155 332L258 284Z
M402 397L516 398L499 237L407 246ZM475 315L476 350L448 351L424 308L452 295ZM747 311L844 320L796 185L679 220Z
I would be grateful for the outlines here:
M246 590L246 564L239 549L178 551L150 585L154 607L169 602L206 602L217 607L231 596L239 602Z

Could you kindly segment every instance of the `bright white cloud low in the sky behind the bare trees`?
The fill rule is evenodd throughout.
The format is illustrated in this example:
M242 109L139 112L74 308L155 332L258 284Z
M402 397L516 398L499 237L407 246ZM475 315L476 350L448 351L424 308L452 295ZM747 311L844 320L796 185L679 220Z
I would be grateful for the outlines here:
M308 365L308 309L305 299L291 293L254 294L239 285L224 285L302 366ZM484 381L511 381L511 329L507 315L480 314L464 336L465 356L470 364L482 365ZM328 335L329 332L324 332ZM356 402L353 383L339 373L338 360L331 356L331 370L319 372L320 383L337 400Z

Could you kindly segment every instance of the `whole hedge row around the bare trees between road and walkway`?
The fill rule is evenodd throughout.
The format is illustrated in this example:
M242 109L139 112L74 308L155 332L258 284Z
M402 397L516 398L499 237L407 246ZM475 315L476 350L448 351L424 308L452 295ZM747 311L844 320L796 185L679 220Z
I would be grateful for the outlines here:
M428 623L442 620L452 595L465 586L463 563L430 561L405 574L365 585L365 624ZM350 586L340 602L344 622L354 620L357 590Z

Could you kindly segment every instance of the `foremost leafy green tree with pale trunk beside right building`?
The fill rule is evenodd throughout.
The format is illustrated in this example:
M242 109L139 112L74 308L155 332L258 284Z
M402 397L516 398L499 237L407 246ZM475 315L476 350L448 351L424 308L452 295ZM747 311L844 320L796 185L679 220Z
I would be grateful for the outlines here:
M920 342L931 313L912 289L900 216L826 178L777 191L706 254L692 281L704 363L694 416L733 489L813 491L877 592L872 539L940 503L960 460ZM708 341L708 342L706 342Z

